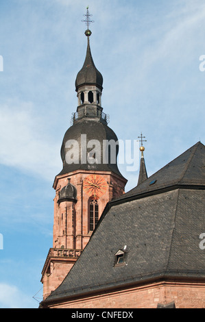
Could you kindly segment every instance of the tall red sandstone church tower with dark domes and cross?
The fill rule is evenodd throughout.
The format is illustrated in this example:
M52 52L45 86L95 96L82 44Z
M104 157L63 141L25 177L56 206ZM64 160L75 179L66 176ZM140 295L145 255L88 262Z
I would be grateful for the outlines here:
M89 27L88 8L85 16ZM53 182L53 247L42 271L44 299L86 247L106 203L123 195L127 183L117 166L117 136L101 107L103 77L91 55L91 30L87 28L85 35L86 58L75 80L77 111L62 141L62 171Z

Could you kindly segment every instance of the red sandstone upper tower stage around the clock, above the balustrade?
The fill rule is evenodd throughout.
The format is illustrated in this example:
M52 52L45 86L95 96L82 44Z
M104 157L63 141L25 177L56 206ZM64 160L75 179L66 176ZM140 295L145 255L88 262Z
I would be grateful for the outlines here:
M56 197L54 199L54 225L53 225L53 247L60 248L62 245L61 238L62 231L66 230L66 227L61 227L58 223L58 219L60 218L61 213L64 213L65 210L62 208L66 208L66 204L63 202L62 205L58 206L58 192L67 185L67 178L71 178L71 184L77 188L77 203L75 204L75 236L76 238L76 249L83 249L88 240L91 237L91 232L88 231L88 201L89 197L82 190L82 183L87 175L91 174L99 174L106 179L108 182L108 190L106 194L103 195L99 200L99 217L103 212L106 203L110 201L112 198L119 197L124 193L125 180L121 179L117 175L112 174L108 171L75 171L73 173L69 173L69 175L62 175L56 178L56 182L54 184L54 188L56 188ZM71 203L71 201L70 201ZM61 230L60 230L61 229ZM57 240L57 241L56 241ZM55 243L56 241L56 243ZM75 244L73 242L73 244ZM69 247L67 247L69 248Z

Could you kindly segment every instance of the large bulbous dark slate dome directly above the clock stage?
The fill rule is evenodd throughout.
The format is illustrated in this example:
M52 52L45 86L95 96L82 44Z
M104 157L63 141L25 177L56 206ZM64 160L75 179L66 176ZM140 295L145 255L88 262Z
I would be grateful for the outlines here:
M88 162L86 159L86 163L84 163L84 160L82 160L82 134L86 135L86 145L88 144L88 141L90 140L98 140L100 143L101 151L101 160L98 160L99 163L91 164L91 162ZM68 140L76 140L79 146L79 163L71 163L68 164L66 162L66 153L69 151L69 149L66 147ZM58 175L66 174L73 172L75 170L90 170L90 171L112 171L113 173L116 173L117 175L121 175L119 172L118 166L117 166L117 155L119 151L119 145L117 143L116 145L116 151L114 150L114 163L111 162L103 163L103 142L104 140L114 140L114 143L118 141L118 138L116 134L108 127L108 125L101 123L99 121L95 120L85 120L82 119L81 121L77 121L77 123L74 123L69 129L67 129L67 132L64 134L64 139L62 141L62 147L61 147L61 158L63 162L63 169ZM85 146L85 145L84 145ZM92 149L95 149L95 146L90 148L85 148L86 153L84 153L84 156L87 158L89 151ZM97 158L97 156L95 156ZM110 160L110 159L108 159Z

